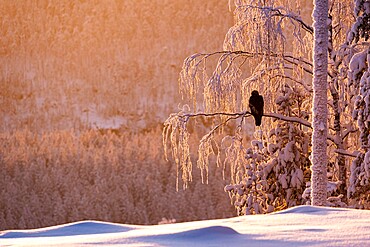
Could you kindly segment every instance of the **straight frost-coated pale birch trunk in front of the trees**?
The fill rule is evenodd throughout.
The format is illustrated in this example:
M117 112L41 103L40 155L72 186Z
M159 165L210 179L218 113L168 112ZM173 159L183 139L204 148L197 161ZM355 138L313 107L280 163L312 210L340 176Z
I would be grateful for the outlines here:
M325 206L327 197L327 70L328 70L328 0L314 0L313 118L311 204Z

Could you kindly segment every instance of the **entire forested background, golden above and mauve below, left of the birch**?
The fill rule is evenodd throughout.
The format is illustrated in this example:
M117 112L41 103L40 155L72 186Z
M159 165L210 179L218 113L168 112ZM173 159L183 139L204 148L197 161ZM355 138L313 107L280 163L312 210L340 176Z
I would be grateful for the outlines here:
M1 1L0 230L235 215L222 169L176 192L161 144L183 59L232 21L215 0Z

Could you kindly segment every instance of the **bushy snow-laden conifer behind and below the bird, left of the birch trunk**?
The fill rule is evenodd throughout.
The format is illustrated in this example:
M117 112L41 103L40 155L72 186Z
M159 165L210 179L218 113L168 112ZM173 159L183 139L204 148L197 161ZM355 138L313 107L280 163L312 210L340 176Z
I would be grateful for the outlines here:
M281 93L276 100L280 114L307 114L297 107L299 92L285 85ZM307 201L302 195L310 178L310 136L299 124L276 121L265 140L253 140L246 149L242 179L225 187L239 215L269 213Z

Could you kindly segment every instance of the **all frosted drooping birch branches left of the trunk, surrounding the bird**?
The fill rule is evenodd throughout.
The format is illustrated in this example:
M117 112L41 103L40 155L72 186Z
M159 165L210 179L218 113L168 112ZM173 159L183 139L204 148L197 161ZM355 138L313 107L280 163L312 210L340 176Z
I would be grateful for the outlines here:
M264 96L265 112L277 108L275 100L279 95L276 92L281 91L284 85L294 85L294 88L301 90L304 95L300 99L302 102L312 92L305 78L312 73L312 63L305 54L305 49L309 49L305 36L306 33L312 34L312 28L290 8L280 7L281 2L249 2L234 2L235 25L226 35L223 51L194 54L184 61L179 80L180 90L191 105L167 119L163 137L166 149L167 141L171 143L172 154L181 170L185 187L187 181L192 179L190 147L187 145L187 124L190 119L206 116L213 117L215 121L212 130L201 140L198 152L197 164L206 171L211 154L216 154L218 164L221 164L219 158L222 150L216 145L217 135L222 135L222 128L233 121L237 126L233 138L239 139L241 144L236 145L233 152L245 153L240 133L250 133L251 130L246 124L249 119L246 118L250 116L247 109L253 89ZM293 45L287 47L287 37L292 29L295 31L289 41ZM208 64L215 64L216 69L212 71ZM304 107L309 112L310 102L304 101ZM310 126L307 119L294 114L265 116ZM305 117L309 116L306 114ZM263 119L263 130L275 125L270 118ZM242 156L233 159L234 165L244 162Z

